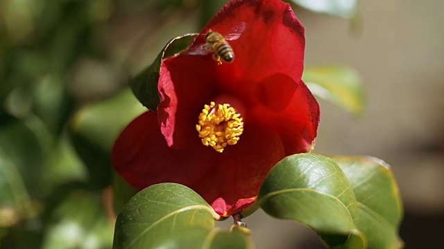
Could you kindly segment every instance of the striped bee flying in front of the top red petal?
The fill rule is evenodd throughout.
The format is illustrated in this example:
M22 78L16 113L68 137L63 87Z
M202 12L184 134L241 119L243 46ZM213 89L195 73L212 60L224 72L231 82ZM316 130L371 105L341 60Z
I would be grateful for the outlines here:
M190 55L208 55L213 53L213 59L222 64L222 62L233 62L234 52L228 41L234 41L241 37L246 28L246 23L241 22L232 29L232 33L221 35L213 30L205 33L205 44L200 44L189 50Z

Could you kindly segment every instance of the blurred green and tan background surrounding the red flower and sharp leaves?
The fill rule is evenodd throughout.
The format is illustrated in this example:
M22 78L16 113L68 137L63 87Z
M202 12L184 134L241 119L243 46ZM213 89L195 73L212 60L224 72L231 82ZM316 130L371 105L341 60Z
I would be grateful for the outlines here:
M112 246L110 149L145 110L128 77L225 2L0 0L1 248ZM444 2L291 4L306 28L304 80L323 86L314 153L386 160L406 248L444 248ZM323 248L260 210L244 221L259 249Z

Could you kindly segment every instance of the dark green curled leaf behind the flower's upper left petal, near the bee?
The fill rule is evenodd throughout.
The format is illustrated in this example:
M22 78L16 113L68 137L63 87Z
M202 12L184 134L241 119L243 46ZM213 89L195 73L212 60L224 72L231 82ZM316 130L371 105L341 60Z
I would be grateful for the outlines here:
M163 48L162 52L160 52L151 66L130 79L129 84L131 89L133 89L134 95L144 107L152 111L157 110L157 104L160 102L160 96L157 91L157 82L159 82L162 60L185 50L197 35L198 34L187 34L174 37Z

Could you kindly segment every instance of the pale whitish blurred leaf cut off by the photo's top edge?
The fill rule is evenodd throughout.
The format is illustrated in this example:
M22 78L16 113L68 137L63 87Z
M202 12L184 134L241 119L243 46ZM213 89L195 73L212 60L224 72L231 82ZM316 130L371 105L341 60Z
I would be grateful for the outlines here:
M351 19L357 12L357 0L291 0L307 10Z

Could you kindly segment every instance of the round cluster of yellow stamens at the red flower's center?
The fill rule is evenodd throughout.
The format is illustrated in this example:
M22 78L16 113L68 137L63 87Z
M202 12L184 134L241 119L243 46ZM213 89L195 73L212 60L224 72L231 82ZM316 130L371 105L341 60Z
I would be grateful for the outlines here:
M211 102L205 104L199 114L196 130L205 146L211 146L217 152L223 152L227 145L236 145L244 132L244 122L241 115L236 113L230 104Z

